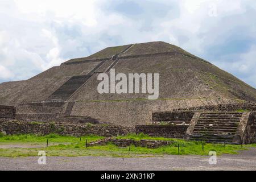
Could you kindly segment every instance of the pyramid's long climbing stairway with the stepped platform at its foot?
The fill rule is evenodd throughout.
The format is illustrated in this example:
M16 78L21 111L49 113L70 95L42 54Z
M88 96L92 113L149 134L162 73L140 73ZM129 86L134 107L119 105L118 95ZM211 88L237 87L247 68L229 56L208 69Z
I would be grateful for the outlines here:
M126 48L127 51L131 46ZM122 53L122 52L121 52ZM70 117L71 111L75 102L66 102L73 96L82 86L84 86L98 71L108 73L115 64L118 63L118 55L113 55L109 60L102 60L95 68L87 75L77 75L69 78L67 82L61 85L55 92L53 92L45 101L22 104L17 107L16 119L23 119L27 121L79 121L79 122L93 122L98 121L88 117ZM64 108L65 103L67 107Z

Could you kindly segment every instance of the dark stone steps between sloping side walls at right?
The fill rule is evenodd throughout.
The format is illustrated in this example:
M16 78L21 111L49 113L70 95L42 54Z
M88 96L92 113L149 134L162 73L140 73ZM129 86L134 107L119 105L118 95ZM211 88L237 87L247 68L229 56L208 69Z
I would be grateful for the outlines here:
M242 113L201 113L189 139L232 143Z

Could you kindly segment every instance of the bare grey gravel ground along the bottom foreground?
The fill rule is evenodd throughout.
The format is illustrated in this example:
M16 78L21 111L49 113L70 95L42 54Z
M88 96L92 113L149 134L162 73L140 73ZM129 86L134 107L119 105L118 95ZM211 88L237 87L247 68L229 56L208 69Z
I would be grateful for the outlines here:
M46 165L38 157L0 158L0 170L256 170L256 148L238 155L222 155L216 165L209 156L176 156L162 158L47 157Z

